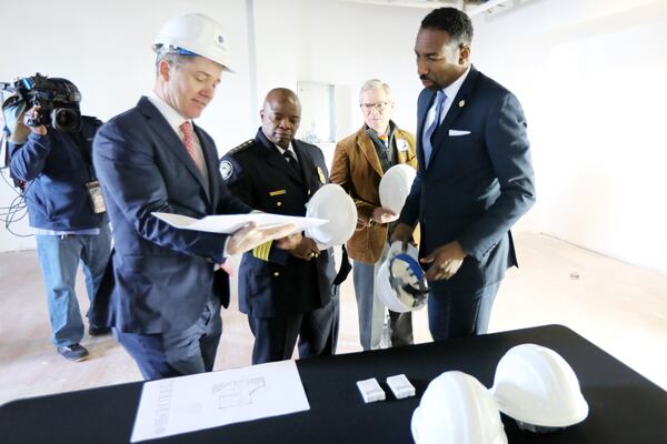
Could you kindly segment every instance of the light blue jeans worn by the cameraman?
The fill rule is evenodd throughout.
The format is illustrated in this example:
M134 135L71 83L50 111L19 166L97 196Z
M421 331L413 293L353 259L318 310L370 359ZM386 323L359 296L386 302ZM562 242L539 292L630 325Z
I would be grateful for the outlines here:
M74 292L79 261L86 276L90 306L102 281L111 254L111 231L106 224L100 234L71 234L37 236L37 255L42 269L49 319L57 346L78 344L83 337L83 320Z

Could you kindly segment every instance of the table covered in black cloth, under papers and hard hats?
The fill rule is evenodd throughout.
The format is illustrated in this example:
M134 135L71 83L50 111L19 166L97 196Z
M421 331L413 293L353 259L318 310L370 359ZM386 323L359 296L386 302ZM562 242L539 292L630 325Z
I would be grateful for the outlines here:
M519 431L504 416L510 444L667 443L667 392L561 325L297 361L310 411L147 442L411 443L411 414L429 381L459 370L489 387L500 357L522 343L552 349L573 366L590 412L578 425L541 435ZM399 373L408 376L417 396L394 397L385 380ZM364 404L355 383L369 377L380 381L387 401ZM0 443L128 443L141 386L7 403L0 407Z

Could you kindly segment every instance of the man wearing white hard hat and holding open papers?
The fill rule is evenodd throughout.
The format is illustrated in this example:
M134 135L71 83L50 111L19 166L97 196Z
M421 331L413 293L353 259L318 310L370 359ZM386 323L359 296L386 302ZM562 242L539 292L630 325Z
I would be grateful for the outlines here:
M97 313L146 379L212 370L220 304L229 303L228 278L216 264L290 229L250 224L227 235L178 230L152 215L251 211L229 194L212 139L192 124L229 70L220 26L201 14L179 17L162 27L153 49L153 91L104 124L93 151L115 239L106 276L113 286L98 295Z

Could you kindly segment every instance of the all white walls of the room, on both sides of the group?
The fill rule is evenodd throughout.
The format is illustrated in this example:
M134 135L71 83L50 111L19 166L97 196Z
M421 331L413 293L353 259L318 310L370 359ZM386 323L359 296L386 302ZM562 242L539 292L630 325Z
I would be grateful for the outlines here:
M296 89L299 80L337 85L338 137L361 124L358 89L372 77L392 87L395 120L415 130L414 41L427 10L334 0L37 3L31 22L56 22L58 31L8 20L24 17L24 7L3 6L0 39L13 43L3 46L0 80L68 77L83 92L83 110L102 119L151 88L150 42L160 24L200 11L229 30L238 59L200 121L220 152L255 134L269 89ZM538 203L517 230L667 271L667 1L530 0L475 26L476 67L512 90L528 118ZM0 206L11 194L0 184ZM0 229L0 251L30 245Z

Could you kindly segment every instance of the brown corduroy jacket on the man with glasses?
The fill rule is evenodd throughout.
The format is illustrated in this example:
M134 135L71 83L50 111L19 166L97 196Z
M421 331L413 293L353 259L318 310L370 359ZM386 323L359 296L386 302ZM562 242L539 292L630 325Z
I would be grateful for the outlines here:
M394 139L398 148L398 163L417 169L415 134L397 129ZM407 149L401 150L401 147ZM349 256L355 261L376 263L387 242L387 225L371 223L372 210L381 206L378 190L382 175L380 159L366 125L336 144L330 180L342 186L357 204L357 230L346 244Z

